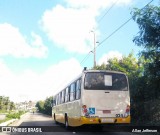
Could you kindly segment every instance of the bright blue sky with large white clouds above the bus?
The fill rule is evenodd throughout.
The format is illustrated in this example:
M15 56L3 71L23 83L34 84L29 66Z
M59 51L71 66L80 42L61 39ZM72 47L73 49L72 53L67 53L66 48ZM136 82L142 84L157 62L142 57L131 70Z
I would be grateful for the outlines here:
M0 0L0 95L14 102L55 95L93 67L94 37L98 65L131 51L138 57L133 20L104 39L149 1Z

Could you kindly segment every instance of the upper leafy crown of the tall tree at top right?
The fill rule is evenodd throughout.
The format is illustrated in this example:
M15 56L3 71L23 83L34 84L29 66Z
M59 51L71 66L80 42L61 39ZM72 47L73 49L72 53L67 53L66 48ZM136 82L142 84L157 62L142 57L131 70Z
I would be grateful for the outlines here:
M132 16L140 29L133 41L148 51L157 50L160 47L160 7L148 5L143 9L135 8Z

